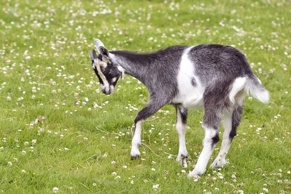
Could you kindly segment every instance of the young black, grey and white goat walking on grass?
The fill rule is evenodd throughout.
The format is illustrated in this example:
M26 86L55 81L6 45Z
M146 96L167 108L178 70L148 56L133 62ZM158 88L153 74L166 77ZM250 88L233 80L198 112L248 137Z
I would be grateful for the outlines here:
M95 39L97 53L90 51L92 67L101 90L110 95L121 76L128 74L143 82L150 94L148 104L137 114L132 138L131 158L139 158L142 123L164 105L176 107L179 137L178 160L186 164L185 144L187 109L204 108L203 150L189 176L205 173L210 155L219 142L218 129L224 117L224 134L213 168L226 164L226 153L241 122L242 105L250 93L263 103L268 91L253 74L244 54L225 45L173 46L152 53L125 50L108 51Z

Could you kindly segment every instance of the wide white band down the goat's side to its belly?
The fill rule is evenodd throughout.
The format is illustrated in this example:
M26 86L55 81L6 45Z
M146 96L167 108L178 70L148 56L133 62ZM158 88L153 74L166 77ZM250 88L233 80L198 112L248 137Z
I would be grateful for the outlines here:
M194 74L194 64L188 57L189 51L193 47L185 49L178 71L178 90L177 97L172 99L173 103L181 103L185 107L191 107L193 109L200 109L203 106L203 93L201 81L198 76ZM195 79L196 85L192 85L192 79Z

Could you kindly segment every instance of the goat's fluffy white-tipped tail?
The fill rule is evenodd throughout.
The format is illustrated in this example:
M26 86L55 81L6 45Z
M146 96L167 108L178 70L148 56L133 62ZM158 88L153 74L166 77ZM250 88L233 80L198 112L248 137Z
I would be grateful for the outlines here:
M263 103L269 102L269 92L261 85L261 81L257 76L253 75L249 77L246 81L244 89L247 93L250 93L251 96L257 98L259 101Z

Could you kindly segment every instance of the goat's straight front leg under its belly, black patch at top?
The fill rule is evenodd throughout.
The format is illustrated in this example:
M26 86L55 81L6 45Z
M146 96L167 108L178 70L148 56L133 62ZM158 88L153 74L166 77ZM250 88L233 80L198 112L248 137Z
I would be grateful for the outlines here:
M180 106L180 107L176 107L176 113L177 113L176 130L179 137L179 153L178 153L177 161L180 161L181 165L184 166L184 164L186 164L186 158L188 156L188 152L186 149L186 142L185 142L185 132L186 132L186 122L187 122L188 111L186 108Z

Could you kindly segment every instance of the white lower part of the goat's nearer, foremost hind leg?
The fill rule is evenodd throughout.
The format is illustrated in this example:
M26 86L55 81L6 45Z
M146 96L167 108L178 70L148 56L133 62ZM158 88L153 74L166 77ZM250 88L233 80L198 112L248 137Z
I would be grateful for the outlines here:
M203 149L192 172L188 177L202 175L206 171L207 163L210 159L214 147L211 145L211 138L216 135L217 130L205 127L205 138L203 140Z

